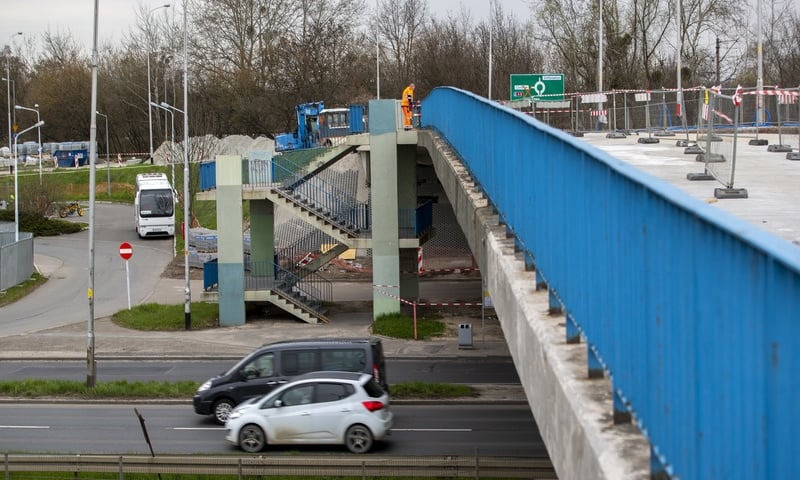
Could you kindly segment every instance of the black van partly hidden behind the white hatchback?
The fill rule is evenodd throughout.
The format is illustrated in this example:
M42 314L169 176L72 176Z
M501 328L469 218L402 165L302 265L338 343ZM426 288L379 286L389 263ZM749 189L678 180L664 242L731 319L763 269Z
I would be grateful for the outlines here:
M194 395L194 411L224 424L236 405L315 371L368 373L389 390L379 338L287 340L261 346L227 372L203 383Z

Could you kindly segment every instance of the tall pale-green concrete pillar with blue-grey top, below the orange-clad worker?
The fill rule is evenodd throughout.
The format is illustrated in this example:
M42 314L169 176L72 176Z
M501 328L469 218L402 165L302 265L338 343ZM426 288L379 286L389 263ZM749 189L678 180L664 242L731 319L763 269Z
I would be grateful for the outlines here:
M385 292L400 293L397 102L370 100L369 148L372 175L372 283L392 287L373 289L373 316L397 313L400 301Z

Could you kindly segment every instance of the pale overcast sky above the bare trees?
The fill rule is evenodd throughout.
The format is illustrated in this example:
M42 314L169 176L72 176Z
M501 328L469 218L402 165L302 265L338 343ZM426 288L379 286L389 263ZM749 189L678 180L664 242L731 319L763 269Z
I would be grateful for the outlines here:
M372 8L375 0L366 0ZM506 12L519 12L527 17L530 10L526 0L495 0L500 2ZM101 45L106 42L119 42L136 23L135 7L141 3L158 7L165 3L180 8L182 0L99 0L98 39ZM437 18L448 13L457 13L461 6L466 7L473 20L483 20L489 16L490 0L429 0L428 8ZM0 47L13 43L20 45L23 36L36 38L41 44L41 34L65 32L69 30L80 42L86 52L92 49L94 29L94 0L0 0Z

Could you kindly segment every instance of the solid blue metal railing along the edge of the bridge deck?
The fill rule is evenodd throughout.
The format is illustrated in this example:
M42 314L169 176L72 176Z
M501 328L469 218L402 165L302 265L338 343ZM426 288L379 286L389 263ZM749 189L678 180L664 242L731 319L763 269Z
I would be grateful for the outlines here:
M667 473L800 472L796 246L469 92L437 88L423 110L535 255Z

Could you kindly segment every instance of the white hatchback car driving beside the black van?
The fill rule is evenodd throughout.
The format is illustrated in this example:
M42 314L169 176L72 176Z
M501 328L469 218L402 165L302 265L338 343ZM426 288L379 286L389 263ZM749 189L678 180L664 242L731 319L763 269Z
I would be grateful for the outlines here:
M245 452L266 445L345 445L366 453L389 435L389 394L371 375L313 372L237 406L226 439Z

